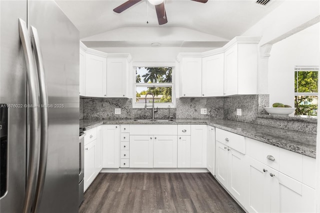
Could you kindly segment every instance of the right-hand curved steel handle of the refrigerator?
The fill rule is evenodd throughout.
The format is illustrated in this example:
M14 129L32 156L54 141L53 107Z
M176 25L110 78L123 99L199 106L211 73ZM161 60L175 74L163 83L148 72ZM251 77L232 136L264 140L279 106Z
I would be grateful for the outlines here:
M34 51L35 63L38 72L38 81L40 89L40 115L41 115L41 127L40 127L40 158L39 158L39 170L37 185L35 189L35 196L32 209L34 212L39 212L39 204L43 191L43 185L46 172L46 161L48 152L48 94L45 83L45 73L43 58L40 48L40 39L37 29L33 26L31 28L31 44Z

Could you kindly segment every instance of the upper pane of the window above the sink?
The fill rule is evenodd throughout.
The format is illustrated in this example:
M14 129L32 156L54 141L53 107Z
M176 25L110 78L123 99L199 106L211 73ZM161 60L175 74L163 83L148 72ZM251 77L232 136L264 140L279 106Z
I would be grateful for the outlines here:
M136 67L136 83L172 83L172 67Z

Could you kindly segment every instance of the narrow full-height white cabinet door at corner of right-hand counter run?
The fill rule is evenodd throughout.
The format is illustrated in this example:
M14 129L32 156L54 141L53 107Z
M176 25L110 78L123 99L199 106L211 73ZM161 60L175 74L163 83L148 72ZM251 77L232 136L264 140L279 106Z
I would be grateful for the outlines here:
M207 126L206 141L206 168L214 175L214 156L215 156L215 131L214 127Z

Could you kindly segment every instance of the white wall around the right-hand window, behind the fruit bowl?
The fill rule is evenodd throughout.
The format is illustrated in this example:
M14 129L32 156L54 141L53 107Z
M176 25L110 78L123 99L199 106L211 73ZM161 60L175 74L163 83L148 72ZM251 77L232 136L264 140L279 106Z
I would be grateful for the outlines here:
M270 105L294 105L294 66L319 65L319 24L272 45L268 64Z

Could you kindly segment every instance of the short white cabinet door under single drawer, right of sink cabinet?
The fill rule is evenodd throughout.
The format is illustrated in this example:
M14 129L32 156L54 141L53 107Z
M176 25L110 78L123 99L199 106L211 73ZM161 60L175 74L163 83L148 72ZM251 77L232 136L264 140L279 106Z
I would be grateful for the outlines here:
M177 167L190 167L190 135L178 135Z

